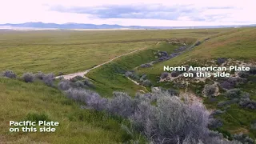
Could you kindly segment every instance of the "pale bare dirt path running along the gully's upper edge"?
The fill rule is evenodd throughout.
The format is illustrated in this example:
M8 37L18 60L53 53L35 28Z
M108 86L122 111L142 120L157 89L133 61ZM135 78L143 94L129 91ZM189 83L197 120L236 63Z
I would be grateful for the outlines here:
M143 50L143 49L146 49L146 47L143 47L143 48L138 49L138 50ZM90 68L90 69L88 69L88 70L86 70L86 71L82 71L82 72L78 72L78 73L74 73L74 74L60 75L60 76L55 77L55 78L61 78L61 77L63 77L64 79L70 79L70 78L74 78L74 77L76 77L76 76L81 76L81 77L83 77L83 78L86 78L85 74L89 73L90 70L94 70L94 69L98 68L99 66L105 65L105 64L107 64L107 63L109 63L109 62L112 62L112 61L114 61L114 59L116 59L116 58L120 58L120 57L122 57L122 56L135 53L135 52L138 51L138 50L130 51L129 53L119 55L118 57L112 58L112 59L110 59L109 61L103 62L102 64L97 65L97 66L94 66L93 68Z

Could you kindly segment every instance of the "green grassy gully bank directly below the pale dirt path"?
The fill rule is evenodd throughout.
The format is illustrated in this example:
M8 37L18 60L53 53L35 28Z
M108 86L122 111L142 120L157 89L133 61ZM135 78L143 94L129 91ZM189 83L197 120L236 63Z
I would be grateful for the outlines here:
M135 54L126 55L118 58L114 62L90 71L86 76L94 80L96 90L104 95L111 96L113 91L125 91L134 95L138 90L143 90L141 86L135 85L128 80L123 74L126 70L133 70L135 67L143 63L155 60L154 53L158 50L172 52L178 46L170 45L169 43L162 43L158 46L153 46L146 50L140 50Z

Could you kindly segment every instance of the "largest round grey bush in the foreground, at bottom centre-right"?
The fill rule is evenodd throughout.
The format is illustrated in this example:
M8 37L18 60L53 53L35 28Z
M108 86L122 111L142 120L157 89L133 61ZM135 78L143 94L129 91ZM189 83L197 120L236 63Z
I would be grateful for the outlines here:
M166 96L159 97L157 105L142 103L132 118L139 123L138 129L155 143L176 143L189 134L198 142L205 136L208 116L201 107L187 106L177 97Z

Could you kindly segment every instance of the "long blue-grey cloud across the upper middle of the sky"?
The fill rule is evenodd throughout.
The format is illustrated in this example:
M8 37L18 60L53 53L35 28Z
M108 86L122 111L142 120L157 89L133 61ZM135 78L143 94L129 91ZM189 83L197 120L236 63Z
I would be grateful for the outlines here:
M107 5L107 6L50 6L50 10L76 13L91 14L98 18L138 18L138 19L166 19L177 20L181 13L192 13L189 6L163 6L155 5Z

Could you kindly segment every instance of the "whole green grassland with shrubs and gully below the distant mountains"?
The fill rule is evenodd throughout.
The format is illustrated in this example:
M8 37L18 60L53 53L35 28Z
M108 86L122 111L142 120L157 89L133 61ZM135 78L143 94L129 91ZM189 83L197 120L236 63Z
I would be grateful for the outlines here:
M252 144L255 40L256 28L3 31L0 70L17 78L0 77L0 142ZM181 65L251 70L230 78L163 73L163 66ZM94 66L86 78L54 77ZM61 125L52 134L14 134L12 120Z

